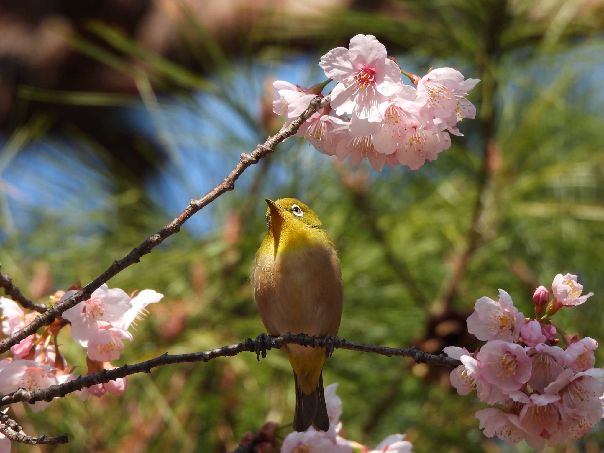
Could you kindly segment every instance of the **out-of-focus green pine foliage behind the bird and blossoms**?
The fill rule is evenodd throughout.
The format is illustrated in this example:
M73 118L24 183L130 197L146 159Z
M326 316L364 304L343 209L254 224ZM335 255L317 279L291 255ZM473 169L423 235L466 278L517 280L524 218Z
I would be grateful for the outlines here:
M300 51L301 39L312 43L314 61L323 50L344 44L356 33L374 33L402 57L400 64L421 68L418 72L454 65L463 67L466 77L483 80L471 94L480 118L464 121L460 129L465 137L455 137L451 149L419 172L397 167L368 174L373 170L364 165L351 172L298 139L248 169L235 191L196 214L210 225L203 234L185 229L109 281L110 287L126 292L152 288L165 294L160 304L150 307L149 317L133 333L133 344L115 364L164 352L213 349L263 332L249 271L266 228L264 199L289 196L318 214L339 249L344 338L393 347L422 344L431 316L442 312L443 303L464 313L477 298L494 297L498 288L506 289L518 309L530 315L536 286L548 286L557 272L572 272L596 296L583 306L563 309L554 321L567 332L603 339L604 129L597 108L602 95L594 76L603 68L593 55L602 55L604 42L601 36L590 37L597 19L577 16L556 25L557 16L547 11L536 18L539 2L385 3L390 9L350 9L318 18L283 18L266 11L259 22L263 25L246 36L248 53L237 64L230 63L233 57L192 14L185 14L179 31L204 76L144 51L101 23L89 24L89 31L112 51L70 37L82 53L132 74L150 117L155 111L161 118L171 108L169 100L155 99L153 89L176 91L191 111L212 125L207 136L194 138L194 145L204 150L211 145L231 167L240 152L252 150L256 140L275 127L259 118L262 87L252 77L242 86L241 74L261 65L278 67L284 57ZM152 69L148 79L133 61ZM303 76L291 82L303 85ZM231 116L253 131L251 136L220 123L190 90L219 99ZM255 104L249 104L249 94L238 97L238 90L251 92ZM27 87L19 93L57 103L129 102L121 95L48 93ZM24 124L0 155L0 169L2 159L11 165L24 144L43 134L45 124L39 119ZM161 121L154 129L164 138L181 132L167 130ZM86 283L177 213L172 208L168 212L165 197L154 198L140 181L130 179L129 169L111 164L103 149L78 131L69 132L94 156L76 155L76 161L68 161L77 168L84 165L89 172L85 178L91 181L83 192L64 190L78 210L40 205L29 213L36 223L26 231L10 231L10 217L2 216L7 234L0 243L2 270L26 293L36 263L50 265L53 289L66 289L75 280ZM152 162L154 172L184 180L185 187L208 190L224 176L210 169L207 181L196 186L186 180L190 173L175 164L182 158L178 149L168 155L166 162ZM195 158L210 165L208 151ZM57 168L64 165L60 159L45 159ZM11 171L31 177L22 164L12 164ZM69 175L69 168L62 171ZM57 176L39 184L55 190L62 180ZM82 215L78 199L97 199L98 206ZM184 208L187 202L181 199L178 206ZM461 278L452 277L466 254ZM425 300L413 297L410 280ZM443 293L451 283L456 291L445 303ZM71 341L68 329L59 338L69 364L79 365L76 373L85 373L84 350ZM438 350L446 345L442 338L437 341ZM599 352L597 364L603 359ZM406 432L419 453L529 451L525 445L512 449L486 439L474 419L474 412L484 406L475 395L455 394L447 374L411 367L406 359L336 350L327 361L324 380L326 385L339 382L346 437L365 445ZM255 355L242 354L132 376L124 397L107 395L86 403L68 397L42 413L25 416L19 409L16 415L28 434L68 432L70 443L57 446L57 452L222 452L267 419L291 423L291 378L280 352L271 351L260 362ZM376 412L380 405L383 410ZM289 429L281 432L286 435ZM581 441L590 451L601 442L599 429Z

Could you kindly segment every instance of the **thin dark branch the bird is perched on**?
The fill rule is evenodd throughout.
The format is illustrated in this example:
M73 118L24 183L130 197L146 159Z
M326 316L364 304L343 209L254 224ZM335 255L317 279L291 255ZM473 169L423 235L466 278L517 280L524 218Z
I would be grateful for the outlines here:
M20 401L28 403L34 403L36 401L51 401L53 398L63 397L74 391L82 390L85 387L90 387L91 385L104 384L105 382L114 381L115 379L118 379L118 377L125 377L135 373L150 373L152 368L159 367L161 365L179 364L185 362L208 362L217 357L235 356L240 352L255 352L259 356L260 352L262 352L262 355L265 356L264 350L271 348L280 349L284 344L300 344L303 346L322 348L326 347L327 349L333 347L339 349L348 349L350 351L380 354L388 357L411 357L417 363L443 365L449 368L454 368L458 365L461 365L460 361L452 359L445 354L432 355L428 354L427 352L420 351L416 347L397 349L385 346L355 343L346 341L344 338L338 338L337 336L333 336L331 338L316 338L314 336L304 335L304 333L300 333L298 335L286 333L283 336L261 335L255 340L248 338L245 341L237 344L231 344L205 352L179 355L169 355L168 353L165 353L164 355L147 360L145 362L140 362L134 365L123 365L123 367L114 368L113 370L101 370L98 373L89 374L88 376L80 376L77 379L74 379L74 381L65 382L65 384L51 385L48 388L42 388L40 390L25 390L25 388L19 388L19 390L16 390L13 393L8 393L0 397L0 406L17 403Z

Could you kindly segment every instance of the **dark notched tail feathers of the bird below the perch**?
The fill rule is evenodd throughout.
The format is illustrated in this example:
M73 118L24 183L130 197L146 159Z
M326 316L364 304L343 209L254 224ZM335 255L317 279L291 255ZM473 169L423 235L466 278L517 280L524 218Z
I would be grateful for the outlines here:
M294 414L294 429L298 432L306 431L310 425L317 431L329 430L329 416L323 392L323 371L319 375L319 382L310 394L304 394L298 386L298 377L294 373L296 386L296 410Z

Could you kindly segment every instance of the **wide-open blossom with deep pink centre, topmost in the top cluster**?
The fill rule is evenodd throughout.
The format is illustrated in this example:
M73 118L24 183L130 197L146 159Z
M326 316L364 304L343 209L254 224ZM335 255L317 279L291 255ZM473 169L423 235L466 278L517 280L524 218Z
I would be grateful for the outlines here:
M338 85L331 104L337 115L380 121L388 97L402 89L399 66L388 59L386 48L371 34L358 34L349 48L337 47L321 57L319 66Z

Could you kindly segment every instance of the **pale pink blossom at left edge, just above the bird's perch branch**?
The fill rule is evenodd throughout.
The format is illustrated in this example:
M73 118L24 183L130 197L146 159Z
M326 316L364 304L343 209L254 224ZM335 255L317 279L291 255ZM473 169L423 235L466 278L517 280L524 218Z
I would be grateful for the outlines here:
M38 390L59 384L55 371L55 368L40 365L33 360L15 360L0 368L0 392L10 393L20 387L25 390ZM39 412L48 404L47 401L36 401L30 404L30 407L32 411Z

